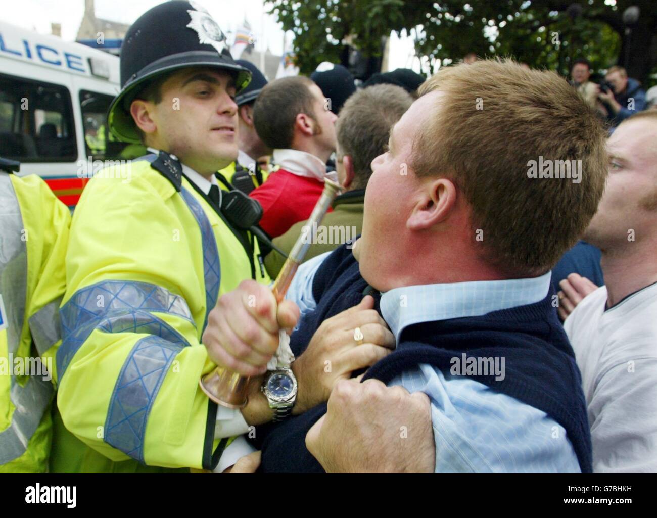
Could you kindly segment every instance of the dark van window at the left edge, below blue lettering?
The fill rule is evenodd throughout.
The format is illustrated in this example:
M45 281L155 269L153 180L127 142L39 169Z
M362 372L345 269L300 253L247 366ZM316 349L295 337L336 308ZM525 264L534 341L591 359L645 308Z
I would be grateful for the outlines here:
M66 87L0 74L0 156L20 162L76 160Z

